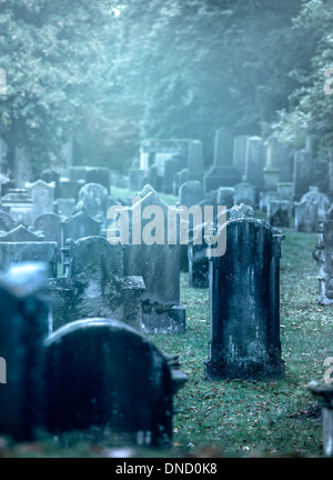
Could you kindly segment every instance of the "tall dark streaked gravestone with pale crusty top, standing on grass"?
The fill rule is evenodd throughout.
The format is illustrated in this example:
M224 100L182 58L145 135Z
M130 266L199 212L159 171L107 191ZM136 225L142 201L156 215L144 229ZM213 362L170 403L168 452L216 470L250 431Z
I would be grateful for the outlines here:
M231 210L226 253L211 261L208 380L283 378L280 342L280 257L283 236Z

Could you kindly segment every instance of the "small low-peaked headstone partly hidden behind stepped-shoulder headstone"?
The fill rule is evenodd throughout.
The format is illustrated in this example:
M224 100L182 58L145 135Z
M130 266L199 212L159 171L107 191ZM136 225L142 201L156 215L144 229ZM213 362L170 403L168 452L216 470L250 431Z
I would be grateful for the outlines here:
M93 220L89 214L80 211L61 222L62 246L68 239L77 241L87 237L98 237L101 233L101 228L102 222Z

